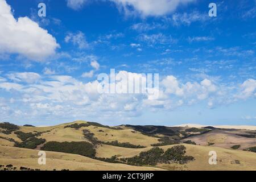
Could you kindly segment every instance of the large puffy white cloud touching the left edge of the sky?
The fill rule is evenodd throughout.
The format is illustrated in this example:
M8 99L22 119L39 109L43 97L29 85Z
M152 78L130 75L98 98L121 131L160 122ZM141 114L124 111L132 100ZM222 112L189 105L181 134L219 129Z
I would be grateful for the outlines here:
M55 54L56 39L28 17L16 20L11 7L0 0L0 52L18 53L41 61Z

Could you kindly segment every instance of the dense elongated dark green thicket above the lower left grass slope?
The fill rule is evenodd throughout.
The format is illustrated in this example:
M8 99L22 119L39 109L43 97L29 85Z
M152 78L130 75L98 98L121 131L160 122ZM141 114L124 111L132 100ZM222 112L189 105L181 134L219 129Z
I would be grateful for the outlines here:
M93 144L88 142L48 142L41 150L78 154L89 158L94 158L96 155Z

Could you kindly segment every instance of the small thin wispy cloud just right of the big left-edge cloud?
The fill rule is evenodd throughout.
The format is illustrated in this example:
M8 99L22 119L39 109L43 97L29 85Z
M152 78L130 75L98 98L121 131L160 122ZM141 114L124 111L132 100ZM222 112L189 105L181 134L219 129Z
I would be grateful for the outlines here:
M74 46L78 46L80 49L89 47L89 44L86 42L85 35L81 31L78 31L77 33L69 32L65 37L65 42L71 42Z

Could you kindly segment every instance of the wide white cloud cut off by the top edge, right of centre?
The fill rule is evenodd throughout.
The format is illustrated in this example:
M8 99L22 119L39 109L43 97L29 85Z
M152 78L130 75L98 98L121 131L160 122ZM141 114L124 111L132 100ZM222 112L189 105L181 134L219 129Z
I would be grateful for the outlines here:
M173 13L180 5L195 0L110 0L117 4L126 15L163 16Z

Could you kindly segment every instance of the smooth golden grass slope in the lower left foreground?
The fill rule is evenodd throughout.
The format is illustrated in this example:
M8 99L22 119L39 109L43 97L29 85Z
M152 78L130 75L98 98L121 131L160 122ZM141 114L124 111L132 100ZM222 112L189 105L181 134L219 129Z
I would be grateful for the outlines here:
M46 165L38 164L38 150L0 146L0 164L12 164L14 167L28 167L41 170L79 170L79 171L154 171L161 170L152 167L135 167L126 164L105 163L80 155L61 152L46 152Z

